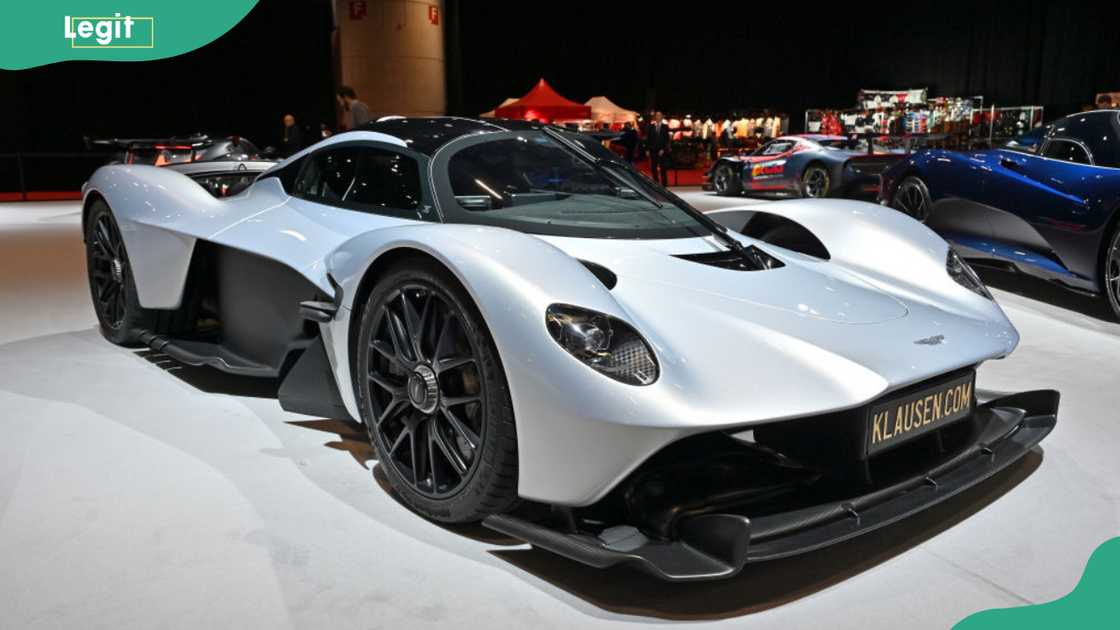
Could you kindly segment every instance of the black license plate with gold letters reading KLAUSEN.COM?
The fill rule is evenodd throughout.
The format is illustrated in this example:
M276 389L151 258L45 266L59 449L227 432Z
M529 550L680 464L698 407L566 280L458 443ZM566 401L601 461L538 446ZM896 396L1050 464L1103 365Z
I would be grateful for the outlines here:
M972 414L976 373L876 402L868 410L867 454L905 444Z

